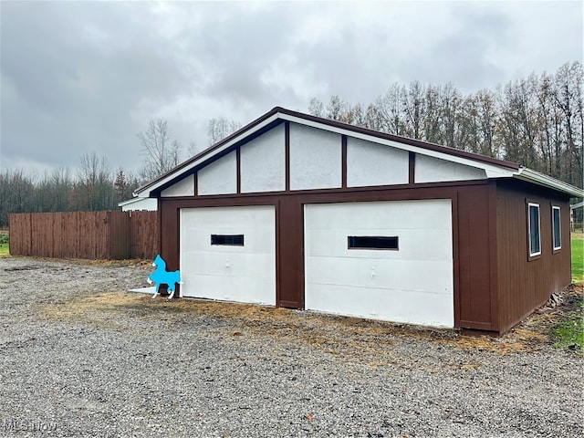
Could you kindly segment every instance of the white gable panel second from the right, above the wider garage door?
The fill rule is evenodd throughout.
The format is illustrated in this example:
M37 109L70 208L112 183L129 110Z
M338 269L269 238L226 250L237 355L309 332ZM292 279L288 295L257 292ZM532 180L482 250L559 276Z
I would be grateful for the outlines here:
M347 139L347 186L407 184L410 153L384 144Z

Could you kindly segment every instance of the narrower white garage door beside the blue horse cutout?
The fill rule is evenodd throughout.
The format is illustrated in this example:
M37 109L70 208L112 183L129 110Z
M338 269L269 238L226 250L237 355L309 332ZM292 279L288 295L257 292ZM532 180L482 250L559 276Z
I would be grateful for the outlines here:
M181 210L184 297L276 305L273 205Z

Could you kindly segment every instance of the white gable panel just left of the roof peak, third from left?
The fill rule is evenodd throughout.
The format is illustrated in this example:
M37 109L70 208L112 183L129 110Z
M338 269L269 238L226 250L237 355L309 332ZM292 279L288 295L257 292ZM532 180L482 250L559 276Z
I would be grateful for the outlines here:
M241 147L241 192L286 190L286 145L284 123Z

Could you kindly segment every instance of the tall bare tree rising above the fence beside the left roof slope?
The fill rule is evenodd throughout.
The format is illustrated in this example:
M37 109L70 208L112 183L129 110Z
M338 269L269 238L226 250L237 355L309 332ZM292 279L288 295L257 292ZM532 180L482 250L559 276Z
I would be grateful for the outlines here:
M144 162L141 177L148 181L170 171L181 161L181 143L170 140L166 120L150 120L148 128L138 134Z

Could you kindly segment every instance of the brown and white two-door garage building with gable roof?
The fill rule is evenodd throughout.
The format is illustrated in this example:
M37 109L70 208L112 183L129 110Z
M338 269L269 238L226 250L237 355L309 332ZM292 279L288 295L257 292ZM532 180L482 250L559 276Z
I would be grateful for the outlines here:
M513 162L275 108L141 187L183 297L502 333L568 286L569 198Z

